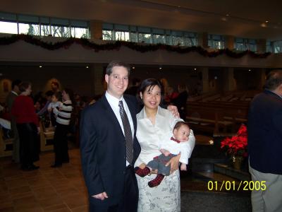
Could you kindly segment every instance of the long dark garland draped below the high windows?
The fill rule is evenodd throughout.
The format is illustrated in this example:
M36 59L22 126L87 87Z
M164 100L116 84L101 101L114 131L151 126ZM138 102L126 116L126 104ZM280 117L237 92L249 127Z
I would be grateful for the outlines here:
M61 48L67 49L68 47L73 45L73 43L76 43L82 45L87 49L94 49L95 52L104 51L104 50L107 51L119 50L122 46L124 46L124 47L128 47L129 49L142 53L154 52L159 49L164 49L168 52L177 52L179 54L197 52L204 57L217 57L219 55L226 54L228 57L233 57L233 58L240 58L240 57L244 57L245 55L250 55L251 57L255 57L255 58L266 58L271 54L270 52L257 54L249 50L244 52L233 52L230 49L219 49L213 52L208 52L206 49L203 49L202 47L180 47L180 46L171 46L171 45L163 45L163 44L142 45L136 42L124 42L124 41L109 42L106 44L97 45L94 42L90 42L87 39L78 39L78 38L69 38L68 40L63 42L51 43L51 42L44 42L37 37L32 37L31 35L23 35L23 34L12 35L11 37L0 37L0 45L11 45L14 42L17 42L18 40L23 40L27 43L30 43L31 45L37 45L39 47L49 50L56 50Z

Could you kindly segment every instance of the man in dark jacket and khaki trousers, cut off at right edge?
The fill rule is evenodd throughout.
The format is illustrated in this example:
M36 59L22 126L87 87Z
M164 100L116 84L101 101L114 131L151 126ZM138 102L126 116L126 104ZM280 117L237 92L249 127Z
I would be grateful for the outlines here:
M282 211L282 71L271 71L247 122L252 211Z

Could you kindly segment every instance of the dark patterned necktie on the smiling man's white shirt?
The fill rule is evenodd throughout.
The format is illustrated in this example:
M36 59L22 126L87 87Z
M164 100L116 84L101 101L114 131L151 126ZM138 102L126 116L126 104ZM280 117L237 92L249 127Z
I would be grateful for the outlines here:
M119 113L121 114L121 120L123 122L123 130L125 137L125 146L126 146L126 160L130 164L133 161L133 136L130 128L130 124L128 121L128 116L123 108L123 101L118 102Z

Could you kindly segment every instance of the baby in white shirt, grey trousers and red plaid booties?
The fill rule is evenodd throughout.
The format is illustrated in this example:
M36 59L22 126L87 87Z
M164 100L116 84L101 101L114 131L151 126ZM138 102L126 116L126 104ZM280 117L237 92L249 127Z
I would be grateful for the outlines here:
M171 133L168 138L165 139L164 143L161 143L159 151L161 155L154 157L153 160L149 161L144 169L135 167L135 173L140 177L145 177L152 170L158 170L157 177L148 182L149 187L157 187L164 176L169 175L171 167L166 166L168 161L180 154L180 170L187 170L188 155L190 155L190 145L188 143L188 137L190 135L190 127L186 122L177 122L173 128L173 136Z

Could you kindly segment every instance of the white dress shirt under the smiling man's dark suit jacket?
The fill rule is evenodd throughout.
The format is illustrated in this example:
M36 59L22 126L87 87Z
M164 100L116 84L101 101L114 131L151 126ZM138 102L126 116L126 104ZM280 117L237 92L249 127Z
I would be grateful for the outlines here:
M111 94L108 93L108 91L106 91L106 100L109 102L111 109L114 111L114 114L116 115L116 118L118 119L118 123L121 126L121 129L123 131L123 135L124 135L124 129L123 129L123 121L121 120L121 114L119 112L119 106L118 106L118 102L119 101L123 101L123 108L126 112L126 115L128 116L128 121L130 124L130 128L131 128L131 132L132 135L134 136L134 125L133 125L133 119L132 119L132 114L130 114L130 110L128 108L128 105L126 104L123 96L121 97L121 99L115 98L114 96L112 96ZM129 163L126 160L126 166L128 166Z

